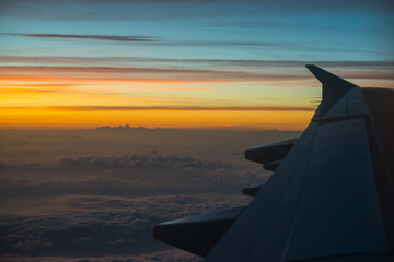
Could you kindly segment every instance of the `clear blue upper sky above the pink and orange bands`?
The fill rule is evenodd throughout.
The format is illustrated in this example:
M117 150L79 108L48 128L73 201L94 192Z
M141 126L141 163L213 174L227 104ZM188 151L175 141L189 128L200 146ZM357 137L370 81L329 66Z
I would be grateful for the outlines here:
M391 61L394 55L390 1L16 0L0 4L2 33L155 40L114 45L2 35L2 55L332 61ZM112 47L107 53L99 52L106 47Z

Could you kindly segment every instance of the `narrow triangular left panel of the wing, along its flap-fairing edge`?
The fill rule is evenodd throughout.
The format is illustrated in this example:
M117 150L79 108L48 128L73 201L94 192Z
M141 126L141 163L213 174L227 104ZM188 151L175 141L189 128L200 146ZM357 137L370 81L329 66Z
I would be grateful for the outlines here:
M280 261L301 200L316 127L317 123L308 127L264 190L257 193L206 261L246 261L260 257L266 261ZM255 251L259 251L258 258L251 257Z

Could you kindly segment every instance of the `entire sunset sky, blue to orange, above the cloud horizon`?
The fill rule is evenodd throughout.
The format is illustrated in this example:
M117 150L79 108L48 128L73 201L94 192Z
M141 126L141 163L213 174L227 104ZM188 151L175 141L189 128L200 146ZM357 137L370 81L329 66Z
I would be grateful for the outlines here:
M0 1L0 129L302 130L315 63L394 87L392 1Z

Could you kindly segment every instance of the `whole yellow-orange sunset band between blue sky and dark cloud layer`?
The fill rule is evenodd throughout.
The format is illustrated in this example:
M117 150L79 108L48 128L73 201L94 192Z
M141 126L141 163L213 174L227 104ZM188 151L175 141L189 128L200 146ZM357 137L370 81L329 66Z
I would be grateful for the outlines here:
M262 72L2 67L0 128L303 130L320 100L321 84L304 68Z

